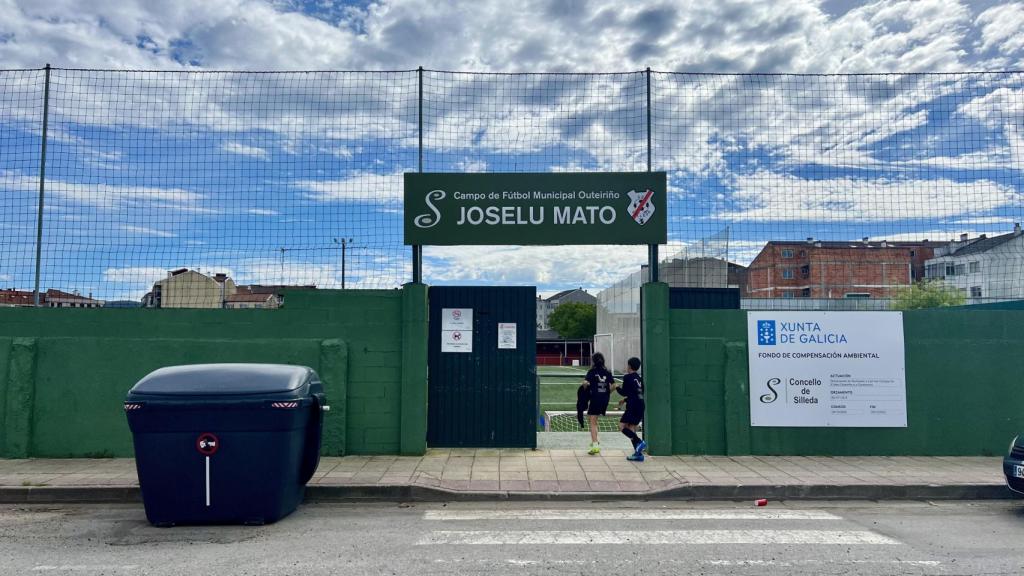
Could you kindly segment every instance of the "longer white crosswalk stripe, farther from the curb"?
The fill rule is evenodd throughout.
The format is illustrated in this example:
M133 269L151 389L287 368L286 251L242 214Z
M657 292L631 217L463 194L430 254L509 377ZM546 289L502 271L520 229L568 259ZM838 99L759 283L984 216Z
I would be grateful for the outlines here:
M898 544L869 531L824 530L644 530L644 531L459 531L438 530L418 545L437 544Z

